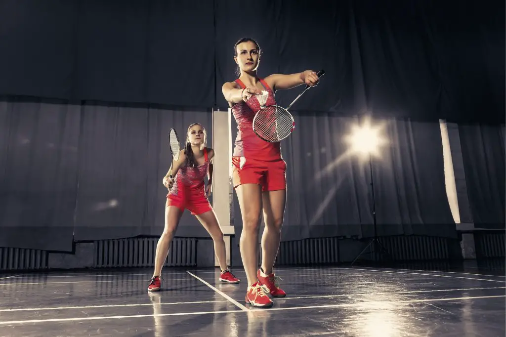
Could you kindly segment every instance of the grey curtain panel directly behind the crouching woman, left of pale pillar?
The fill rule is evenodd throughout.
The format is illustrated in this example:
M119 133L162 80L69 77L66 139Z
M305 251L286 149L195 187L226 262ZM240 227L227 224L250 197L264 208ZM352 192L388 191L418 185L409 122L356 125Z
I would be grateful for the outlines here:
M160 235L168 132L175 128L183 146L188 126L200 122L212 146L212 113L87 103L81 116L75 240ZM201 235L208 236L185 212L176 236Z

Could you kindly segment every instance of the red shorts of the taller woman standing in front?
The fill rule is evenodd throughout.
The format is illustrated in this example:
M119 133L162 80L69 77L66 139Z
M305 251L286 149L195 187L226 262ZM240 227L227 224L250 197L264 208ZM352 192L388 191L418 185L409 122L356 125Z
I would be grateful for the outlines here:
M234 189L243 184L258 184L262 191L286 190L286 162L232 157Z

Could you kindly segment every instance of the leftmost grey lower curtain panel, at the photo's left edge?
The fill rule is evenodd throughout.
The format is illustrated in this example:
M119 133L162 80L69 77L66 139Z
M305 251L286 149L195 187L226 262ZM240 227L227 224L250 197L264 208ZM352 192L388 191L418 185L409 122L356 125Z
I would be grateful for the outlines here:
M72 250L80 108L0 100L0 247Z

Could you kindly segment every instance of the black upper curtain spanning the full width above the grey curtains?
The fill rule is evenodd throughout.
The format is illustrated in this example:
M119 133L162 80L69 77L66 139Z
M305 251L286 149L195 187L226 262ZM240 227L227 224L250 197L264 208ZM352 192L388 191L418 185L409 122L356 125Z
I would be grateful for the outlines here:
M250 35L261 76L326 70L295 109L504 122L504 10L499 0L4 0L0 94L226 108L233 45Z

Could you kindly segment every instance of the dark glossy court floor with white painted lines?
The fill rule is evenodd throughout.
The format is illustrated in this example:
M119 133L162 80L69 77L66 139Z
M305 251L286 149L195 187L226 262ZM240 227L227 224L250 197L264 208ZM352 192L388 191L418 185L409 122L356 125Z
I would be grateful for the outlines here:
M288 293L271 309L244 304L244 282L218 271L3 274L1 336L504 336L501 268L278 268Z

